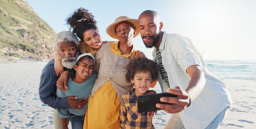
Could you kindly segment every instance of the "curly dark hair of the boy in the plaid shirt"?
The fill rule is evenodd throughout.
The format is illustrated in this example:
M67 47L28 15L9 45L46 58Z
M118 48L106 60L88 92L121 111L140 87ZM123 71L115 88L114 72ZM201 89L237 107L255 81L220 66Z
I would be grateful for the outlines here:
M156 81L158 78L158 65L153 60L146 57L132 59L128 65L124 67L127 69L125 79L127 82L131 82L134 79L134 75L137 72L147 72L150 71L152 76L152 81Z

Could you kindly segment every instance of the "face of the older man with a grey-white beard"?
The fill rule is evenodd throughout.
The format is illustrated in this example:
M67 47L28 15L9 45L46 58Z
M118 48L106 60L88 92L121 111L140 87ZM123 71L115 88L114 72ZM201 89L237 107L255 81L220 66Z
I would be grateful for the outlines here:
M77 44L72 41L64 41L58 43L57 50L61 57L61 64L68 69L72 69L76 65Z

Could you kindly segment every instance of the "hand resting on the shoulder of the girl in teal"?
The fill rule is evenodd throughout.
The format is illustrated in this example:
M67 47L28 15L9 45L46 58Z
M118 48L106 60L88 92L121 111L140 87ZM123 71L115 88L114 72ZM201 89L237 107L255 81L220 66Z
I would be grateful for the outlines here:
M68 74L69 74L69 71L64 71L63 74L61 74L60 78L57 80L58 89L64 92L67 92L67 89L68 89L68 86L67 86Z

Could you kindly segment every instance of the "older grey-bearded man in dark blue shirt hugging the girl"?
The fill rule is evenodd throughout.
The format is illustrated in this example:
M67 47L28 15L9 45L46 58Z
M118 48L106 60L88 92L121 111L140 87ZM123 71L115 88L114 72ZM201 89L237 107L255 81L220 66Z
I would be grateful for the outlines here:
M73 69L77 62L79 40L76 35L70 31L62 31L56 34L54 38L54 47L58 50L61 57L61 64L65 70ZM61 118L56 115L56 109L82 109L86 104L86 98L76 100L77 97L58 98L56 96L56 81L58 76L54 70L54 58L45 65L42 70L39 86L40 100L54 108L54 126L55 128L62 128ZM69 119L67 119L67 125Z

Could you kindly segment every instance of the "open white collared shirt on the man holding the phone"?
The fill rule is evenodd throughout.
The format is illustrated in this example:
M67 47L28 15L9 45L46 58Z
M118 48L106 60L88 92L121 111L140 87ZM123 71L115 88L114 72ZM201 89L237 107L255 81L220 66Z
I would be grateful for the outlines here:
M206 79L204 89L188 108L179 113L185 128L205 128L225 107L232 105L228 88L205 64L188 37L164 32L159 50L171 88L176 86L180 86L184 90L188 88L190 77L186 70L189 66L199 65L204 71ZM157 50L154 48L152 55L155 62L157 62L156 52ZM166 92L168 85L161 79L160 74L159 84L162 92Z

